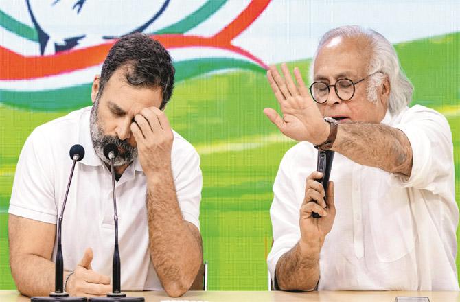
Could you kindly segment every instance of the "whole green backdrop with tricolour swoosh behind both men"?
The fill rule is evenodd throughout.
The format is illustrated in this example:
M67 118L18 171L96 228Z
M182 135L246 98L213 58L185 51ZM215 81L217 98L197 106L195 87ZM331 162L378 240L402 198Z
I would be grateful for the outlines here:
M457 0L0 0L0 290L15 288L8 204L25 139L36 126L90 106L108 49L132 32L150 34L174 59L166 113L201 157L209 290L267 289L272 185L295 141L262 113L278 108L266 69L287 62L308 81L319 38L333 27L383 34L415 86L411 106L446 116L459 202L459 15Z

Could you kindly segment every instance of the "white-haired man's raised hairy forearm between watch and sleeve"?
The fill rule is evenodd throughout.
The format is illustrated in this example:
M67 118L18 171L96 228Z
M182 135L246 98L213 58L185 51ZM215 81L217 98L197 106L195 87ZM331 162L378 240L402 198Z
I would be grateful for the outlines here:
M401 130L384 124L340 124L332 150L361 165L411 176L409 139Z

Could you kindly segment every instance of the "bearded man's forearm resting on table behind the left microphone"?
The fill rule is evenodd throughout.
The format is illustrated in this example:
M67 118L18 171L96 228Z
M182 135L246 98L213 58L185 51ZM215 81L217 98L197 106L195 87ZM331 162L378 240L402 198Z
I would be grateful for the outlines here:
M49 259L38 255L20 255L12 257L11 271L21 294L26 296L48 296L54 292L55 264ZM66 276L68 272L64 272Z

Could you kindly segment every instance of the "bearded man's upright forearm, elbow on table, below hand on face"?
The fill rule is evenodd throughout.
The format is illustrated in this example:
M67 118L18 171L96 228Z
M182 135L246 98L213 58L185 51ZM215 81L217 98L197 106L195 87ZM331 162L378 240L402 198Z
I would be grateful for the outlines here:
M170 296L189 289L203 262L202 244L179 208L172 172L148 180L150 253L157 275Z

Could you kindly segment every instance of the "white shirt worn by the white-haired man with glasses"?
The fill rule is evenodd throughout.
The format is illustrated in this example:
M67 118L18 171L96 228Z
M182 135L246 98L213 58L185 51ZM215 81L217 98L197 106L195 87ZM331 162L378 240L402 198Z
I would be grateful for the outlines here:
M336 217L320 252L318 290L459 290L452 134L424 106L385 116L413 149L411 177L359 165L336 153ZM299 241L299 209L317 150L302 142L286 152L273 185L273 247L268 268Z

